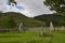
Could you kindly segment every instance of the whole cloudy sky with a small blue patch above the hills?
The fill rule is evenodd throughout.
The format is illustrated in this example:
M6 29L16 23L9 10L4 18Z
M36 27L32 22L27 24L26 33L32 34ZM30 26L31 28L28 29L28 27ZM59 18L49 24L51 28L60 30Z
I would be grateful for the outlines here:
M17 5L12 6L8 4L8 0L0 0L0 11L20 12L28 17L52 13L49 8L43 4L43 0L16 0L16 2Z

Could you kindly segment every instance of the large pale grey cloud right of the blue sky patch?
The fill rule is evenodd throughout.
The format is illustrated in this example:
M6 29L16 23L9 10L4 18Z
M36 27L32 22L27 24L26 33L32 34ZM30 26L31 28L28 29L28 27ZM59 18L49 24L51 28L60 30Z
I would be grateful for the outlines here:
M43 0L17 0L17 2L24 3L27 6L27 10L32 14L30 16L51 13L43 4Z

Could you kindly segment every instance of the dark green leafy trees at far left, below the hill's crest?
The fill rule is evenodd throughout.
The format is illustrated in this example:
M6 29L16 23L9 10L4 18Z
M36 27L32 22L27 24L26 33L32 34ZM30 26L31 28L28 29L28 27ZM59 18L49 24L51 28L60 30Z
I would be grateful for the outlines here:
M16 27L16 23L12 15L2 16L0 19L0 24L2 28L15 28Z

